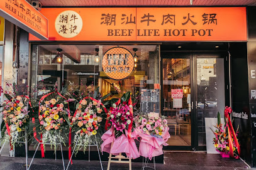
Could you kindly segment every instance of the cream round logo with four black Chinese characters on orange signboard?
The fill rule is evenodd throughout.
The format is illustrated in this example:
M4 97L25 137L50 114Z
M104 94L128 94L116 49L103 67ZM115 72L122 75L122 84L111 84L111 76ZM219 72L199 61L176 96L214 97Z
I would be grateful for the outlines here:
M64 38L77 36L82 29L82 18L75 11L64 11L58 14L55 29Z

